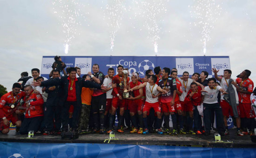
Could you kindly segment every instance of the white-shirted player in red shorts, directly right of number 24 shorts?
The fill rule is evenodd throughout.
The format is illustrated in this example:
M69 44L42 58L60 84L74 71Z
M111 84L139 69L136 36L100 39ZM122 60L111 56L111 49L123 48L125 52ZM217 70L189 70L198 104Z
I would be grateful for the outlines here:
M198 86L202 88L202 91L204 91L204 86L202 86L200 83L196 82L193 79L189 79L189 72L183 72L182 75L183 79L179 78L179 81L182 83L182 95L180 96L180 103L182 105L182 115L183 115L183 121L186 121L186 112L189 112L189 117L187 119L187 125L189 125L189 122L193 122L193 110L189 109L186 104L184 104L184 99L187 96L190 86L192 82L195 82ZM191 134L196 134L194 131L189 131ZM183 127L180 126L180 133L184 133Z

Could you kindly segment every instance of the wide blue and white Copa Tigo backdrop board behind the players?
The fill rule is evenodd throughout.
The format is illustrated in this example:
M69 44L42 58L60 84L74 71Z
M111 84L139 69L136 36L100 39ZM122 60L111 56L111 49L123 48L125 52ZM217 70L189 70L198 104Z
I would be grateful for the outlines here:
M128 68L130 73L139 72L143 77L148 69L154 70L156 66L177 68L178 75L181 76L184 71L189 72L191 76L194 72L201 73L207 71L211 74L211 69L216 68L222 74L224 69L230 69L229 56L61 56L62 61L67 67L81 68L81 75L92 72L93 64L100 66L100 71L107 74L108 68L112 67L117 73L117 66L122 65ZM41 75L47 77L51 72L54 56L43 56ZM211 77L211 75L209 75Z

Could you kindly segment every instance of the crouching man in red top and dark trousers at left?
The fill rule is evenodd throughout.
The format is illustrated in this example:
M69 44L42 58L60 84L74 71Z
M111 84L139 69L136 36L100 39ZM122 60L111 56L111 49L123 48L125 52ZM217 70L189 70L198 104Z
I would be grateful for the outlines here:
M27 134L29 131L37 132L43 119L44 100L42 95L36 94L30 85L25 86L24 91L26 93L24 101L27 110L20 127L20 134Z

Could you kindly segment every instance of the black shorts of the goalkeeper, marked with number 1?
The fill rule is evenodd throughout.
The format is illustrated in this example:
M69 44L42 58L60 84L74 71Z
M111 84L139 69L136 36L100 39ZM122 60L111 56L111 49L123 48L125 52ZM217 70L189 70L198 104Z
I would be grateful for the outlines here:
M105 112L106 102L106 93L92 97L92 112Z

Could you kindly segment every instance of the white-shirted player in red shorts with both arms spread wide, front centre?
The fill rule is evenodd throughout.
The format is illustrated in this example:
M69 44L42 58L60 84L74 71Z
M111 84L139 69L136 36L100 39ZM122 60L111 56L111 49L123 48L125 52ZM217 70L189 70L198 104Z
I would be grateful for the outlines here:
M167 93L166 90L162 89L160 86L156 85L157 77L156 75L151 75L151 77L148 79L148 82L145 82L141 84L140 86L135 86L132 89L128 90L129 92L133 92L137 89L146 87L146 102L143 107L143 122L144 122L144 132L143 134L148 134L148 120L147 120L147 114L150 110L150 108L154 108L156 114L157 114L157 124L156 128L158 129L158 134L163 134L161 127L161 107L158 102L158 97L156 95L159 92L162 92L163 94Z

